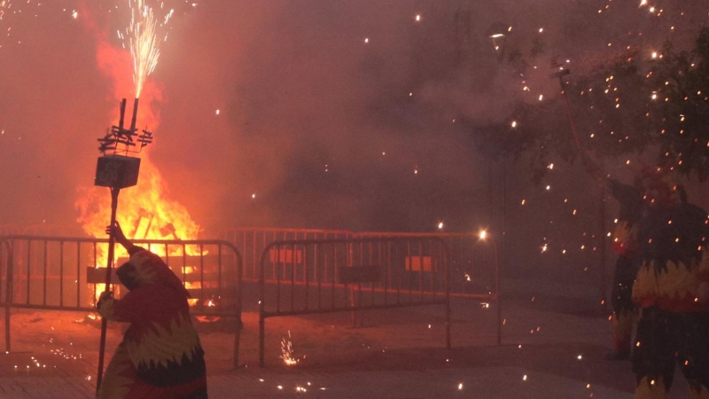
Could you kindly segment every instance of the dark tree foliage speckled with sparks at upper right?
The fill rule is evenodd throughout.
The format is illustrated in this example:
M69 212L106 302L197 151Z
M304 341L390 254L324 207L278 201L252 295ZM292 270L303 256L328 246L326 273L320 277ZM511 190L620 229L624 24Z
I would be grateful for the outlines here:
M507 61L514 71L527 65L519 51ZM584 151L615 160L659 148L660 165L701 180L709 176L709 29L701 30L692 51L676 52L666 43L661 57L651 60L623 52L588 74L565 78ZM520 100L510 121L464 121L461 129L493 158L526 154L534 182L550 160L573 162L579 153L561 96L534 104Z

